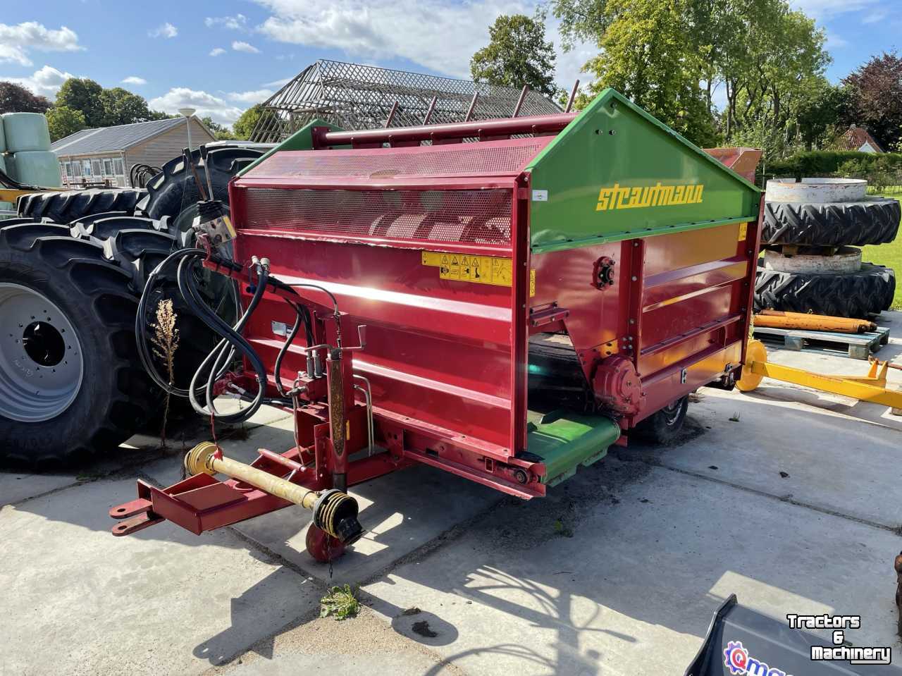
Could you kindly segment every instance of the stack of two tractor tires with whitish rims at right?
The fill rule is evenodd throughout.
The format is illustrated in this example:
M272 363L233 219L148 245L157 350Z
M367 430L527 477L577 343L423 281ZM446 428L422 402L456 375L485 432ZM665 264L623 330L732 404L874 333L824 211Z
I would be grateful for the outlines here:
M862 263L864 245L896 238L899 203L868 197L867 181L768 181L755 310L867 319L888 310L891 268Z

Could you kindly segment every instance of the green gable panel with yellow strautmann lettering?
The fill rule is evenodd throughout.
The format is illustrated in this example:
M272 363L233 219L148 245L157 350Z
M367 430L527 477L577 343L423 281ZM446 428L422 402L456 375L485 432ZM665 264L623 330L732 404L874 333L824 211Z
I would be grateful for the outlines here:
M534 252L758 218L753 184L610 88L527 171Z

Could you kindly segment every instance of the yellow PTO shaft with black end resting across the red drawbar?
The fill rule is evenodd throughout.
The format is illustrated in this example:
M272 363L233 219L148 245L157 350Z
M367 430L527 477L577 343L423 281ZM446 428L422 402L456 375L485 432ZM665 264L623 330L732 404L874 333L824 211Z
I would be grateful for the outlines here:
M216 444L202 441L185 456L185 469L189 475L225 474L265 493L281 497L313 512L313 524L345 544L356 542L364 529L357 521L357 501L342 491L332 489L311 491L292 484L262 469L245 465L232 458L216 457Z

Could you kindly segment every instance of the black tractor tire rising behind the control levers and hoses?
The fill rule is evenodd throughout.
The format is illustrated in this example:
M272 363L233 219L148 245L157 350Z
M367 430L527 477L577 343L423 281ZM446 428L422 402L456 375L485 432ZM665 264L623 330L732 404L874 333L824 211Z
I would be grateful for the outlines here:
M207 153L210 182L213 184L213 197L228 203L228 181L248 164L259 158L263 152L253 148L224 146L210 148ZM207 177L204 161L200 151L193 151L191 162L198 172L207 199ZM200 199L197 181L194 174L181 157L163 164L163 171L154 176L147 184L147 196L138 204L141 212L149 218L168 216L176 219L186 208L196 204ZM179 229L184 229L179 224Z

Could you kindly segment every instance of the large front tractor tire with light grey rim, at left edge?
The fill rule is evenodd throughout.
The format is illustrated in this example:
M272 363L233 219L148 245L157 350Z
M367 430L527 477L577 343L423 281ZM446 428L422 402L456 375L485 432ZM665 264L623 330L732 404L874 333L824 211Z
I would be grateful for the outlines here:
M133 273L103 246L59 225L0 229L0 458L59 468L133 434L161 399L136 308Z

